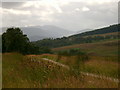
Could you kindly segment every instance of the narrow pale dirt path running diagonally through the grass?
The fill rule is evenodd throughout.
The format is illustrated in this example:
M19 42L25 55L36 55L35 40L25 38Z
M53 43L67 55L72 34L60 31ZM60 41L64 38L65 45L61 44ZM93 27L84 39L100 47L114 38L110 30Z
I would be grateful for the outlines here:
M55 62L55 61L47 59L47 58L42 58L42 60L48 61L48 63L53 63L53 64L56 64L58 66L64 67L68 70L70 69L67 65L61 64L59 62ZM37 60L34 60L33 58L31 58L31 61L37 61ZM117 83L119 82L118 79L111 78L111 77L106 77L106 76L102 76L102 75L97 75L97 74L93 74L93 73L81 72L81 74L86 75L86 76L95 77L95 78L106 79L106 80L114 81L114 82L117 82Z

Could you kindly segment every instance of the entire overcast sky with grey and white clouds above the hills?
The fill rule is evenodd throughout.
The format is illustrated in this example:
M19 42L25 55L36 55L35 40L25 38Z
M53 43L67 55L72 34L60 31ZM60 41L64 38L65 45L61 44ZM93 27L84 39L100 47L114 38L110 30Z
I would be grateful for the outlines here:
M4 0L3 27L55 25L71 31L118 23L119 0ZM1 25L1 23L0 23Z

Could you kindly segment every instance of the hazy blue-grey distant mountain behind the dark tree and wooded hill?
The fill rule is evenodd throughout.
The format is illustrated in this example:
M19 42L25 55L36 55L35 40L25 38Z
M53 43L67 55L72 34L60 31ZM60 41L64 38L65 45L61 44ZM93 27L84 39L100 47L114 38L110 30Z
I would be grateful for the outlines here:
M27 34L31 41L37 41L44 38L60 38L63 36L69 36L74 34L73 31L69 31L57 26L45 25L45 26L29 26L20 27L24 34ZM5 32L6 28L3 28Z

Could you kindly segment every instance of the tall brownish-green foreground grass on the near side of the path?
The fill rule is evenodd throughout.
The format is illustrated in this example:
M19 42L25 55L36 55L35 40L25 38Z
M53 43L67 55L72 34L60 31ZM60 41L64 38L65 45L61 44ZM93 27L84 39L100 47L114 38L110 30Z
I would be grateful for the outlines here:
M41 57L41 56L40 56ZM89 76L75 77L67 69L39 56L3 54L3 88L96 88L118 87L118 83Z

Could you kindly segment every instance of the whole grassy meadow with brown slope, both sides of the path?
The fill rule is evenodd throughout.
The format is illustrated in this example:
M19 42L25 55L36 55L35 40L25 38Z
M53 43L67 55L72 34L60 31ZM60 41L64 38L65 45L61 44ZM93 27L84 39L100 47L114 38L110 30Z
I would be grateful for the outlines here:
M73 69L76 56L57 54L21 55L19 53L2 54L2 87L3 88L117 88L118 82L77 74L76 70L110 78L118 78L118 42L107 41L87 43L61 48L53 48L54 52L80 48L87 52L89 59L80 63L80 69ZM43 58L61 63L65 67L45 61Z

